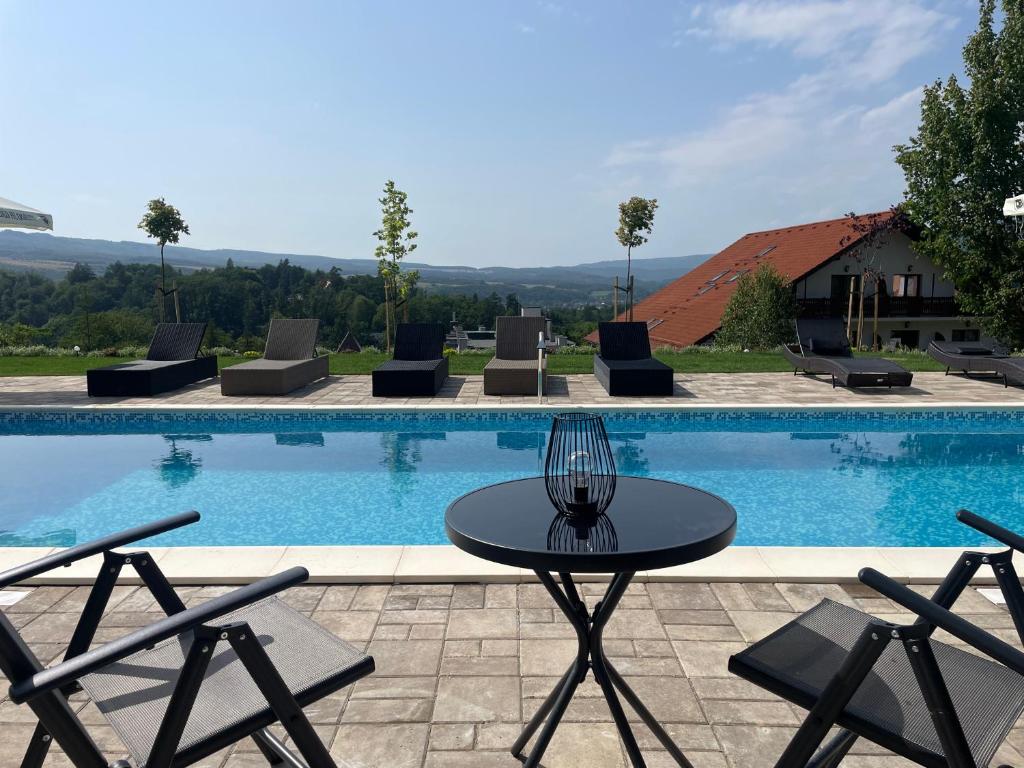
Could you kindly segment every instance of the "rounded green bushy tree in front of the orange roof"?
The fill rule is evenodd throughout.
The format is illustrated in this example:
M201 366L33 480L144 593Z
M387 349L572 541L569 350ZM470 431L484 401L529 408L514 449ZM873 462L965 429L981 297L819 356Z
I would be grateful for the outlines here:
M797 300L793 288L771 264L762 264L736 282L722 313L715 343L743 349L774 349L793 337Z

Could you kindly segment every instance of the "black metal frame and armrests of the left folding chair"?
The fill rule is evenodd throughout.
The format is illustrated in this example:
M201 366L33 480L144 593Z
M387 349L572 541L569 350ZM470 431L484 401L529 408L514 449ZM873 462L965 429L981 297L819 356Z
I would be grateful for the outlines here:
M197 512L175 515L81 544L0 573L0 589L3 589L53 568L69 566L86 557L102 556L99 573L89 592L60 664L44 669L9 620L0 613L0 671L11 681L9 691L11 700L15 703L27 703L38 718L22 760L22 768L41 768L54 740L60 744L77 768L108 768L109 765L126 767L124 761L108 763L78 716L72 711L69 696L80 690L78 680L82 677L159 642L189 633L193 644L168 702L164 720L151 751L147 768L171 768L171 766L176 768L189 765L246 736L253 738L260 753L272 766L336 768L333 759L302 712L301 706L292 695L248 625L211 624L218 616L304 582L308 579L308 572L304 568L291 568L214 598L195 608L186 608L147 551L128 553L112 551L117 547L173 530L199 519ZM166 617L89 650L118 577L126 565L134 568L143 586L150 590L166 613ZM218 734L216 739L205 742L202 751L195 750L176 755L206 668L213 656L216 643L221 641L231 645L240 662L266 697L275 720L282 723L292 737L296 749L305 759L305 764L266 730L266 725L269 723L249 721L239 723ZM367 670L354 669L351 672L352 679L342 684L353 682L358 677L369 674L372 669L372 663ZM316 694L315 689L307 691L303 698L315 700Z

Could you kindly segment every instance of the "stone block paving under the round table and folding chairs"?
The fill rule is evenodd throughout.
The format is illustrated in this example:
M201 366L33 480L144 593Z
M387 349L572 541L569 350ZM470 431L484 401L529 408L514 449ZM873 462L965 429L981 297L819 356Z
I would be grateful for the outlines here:
M189 605L225 587L181 588ZM601 585L583 590L593 605ZM929 587L914 587L930 594ZM71 636L85 588L41 587L7 609L40 658L57 657ZM696 768L771 766L802 712L730 677L726 659L822 597L894 621L892 603L860 585L635 584L614 614L606 648ZM344 768L515 768L507 752L574 649L540 585L394 585L302 587L287 593L297 609L369 648L375 675L310 708L322 736ZM1009 614L974 590L958 612L1018 644ZM97 641L114 639L158 615L153 599L118 587ZM937 637L948 640L948 636ZM111 759L119 742L99 714L76 694L90 731ZM31 713L0 698L0 766L16 766L32 732ZM650 768L672 765L649 733L636 732ZM1024 763L1021 724L992 765ZM65 765L62 760L51 764ZM902 768L907 761L858 742L853 768ZM251 742L201 764L264 766ZM545 758L547 768L626 768L610 715L588 679Z

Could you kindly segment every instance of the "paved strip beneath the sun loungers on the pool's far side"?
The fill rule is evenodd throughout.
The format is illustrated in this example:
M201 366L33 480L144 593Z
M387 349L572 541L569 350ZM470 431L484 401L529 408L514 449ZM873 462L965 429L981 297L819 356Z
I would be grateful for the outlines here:
M593 376L552 376L545 402L551 406L623 408L717 406L1024 406L1024 387L994 379L918 373L903 389L833 389L828 380L792 374L677 374L672 397L610 397ZM83 376L0 378L0 408L486 408L536 406L537 397L483 394L483 377L452 376L436 397L373 397L369 376L332 376L284 397L224 397L211 380L156 397L88 397Z

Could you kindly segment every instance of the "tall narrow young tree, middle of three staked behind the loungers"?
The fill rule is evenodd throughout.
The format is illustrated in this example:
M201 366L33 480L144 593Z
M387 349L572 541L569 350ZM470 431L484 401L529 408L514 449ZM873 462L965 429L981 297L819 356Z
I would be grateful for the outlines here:
M387 351L391 351L392 330L397 323L397 308L406 304L409 296L420 279L418 271L403 272L401 260L416 250L413 241L419 233L410 227L409 220L413 209L407 202L408 195L388 179L384 184L384 197L381 204L381 228L374 232L380 245L374 250L377 257L377 273L384 281L384 340Z

